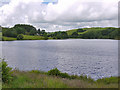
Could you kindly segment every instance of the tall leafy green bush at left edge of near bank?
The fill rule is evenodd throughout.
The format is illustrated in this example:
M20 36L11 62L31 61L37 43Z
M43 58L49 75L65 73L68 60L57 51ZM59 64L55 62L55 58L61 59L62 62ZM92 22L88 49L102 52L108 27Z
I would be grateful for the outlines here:
M12 79L12 68L8 67L8 64L2 60L2 82L6 83Z

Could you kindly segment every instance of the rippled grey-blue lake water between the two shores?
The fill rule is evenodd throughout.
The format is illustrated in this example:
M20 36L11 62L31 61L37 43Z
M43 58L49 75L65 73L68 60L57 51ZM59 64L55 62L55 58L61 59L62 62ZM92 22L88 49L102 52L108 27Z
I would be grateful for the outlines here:
M118 75L118 41L95 39L2 42L2 57L12 68L48 71L94 79Z

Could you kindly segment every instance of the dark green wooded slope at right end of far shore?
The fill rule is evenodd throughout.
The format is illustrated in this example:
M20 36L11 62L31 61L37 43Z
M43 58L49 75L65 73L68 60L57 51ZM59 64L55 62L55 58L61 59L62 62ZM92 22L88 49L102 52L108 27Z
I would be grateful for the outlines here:
M88 30L82 35L86 39L117 39L120 36L118 28L106 28L101 30Z

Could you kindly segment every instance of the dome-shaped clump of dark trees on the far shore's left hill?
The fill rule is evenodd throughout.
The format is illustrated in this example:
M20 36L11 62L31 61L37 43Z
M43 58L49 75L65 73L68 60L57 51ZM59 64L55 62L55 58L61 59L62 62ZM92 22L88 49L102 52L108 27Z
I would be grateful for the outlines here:
M36 35L37 30L32 25L17 24L12 28L2 28L3 36L16 38L19 34Z

